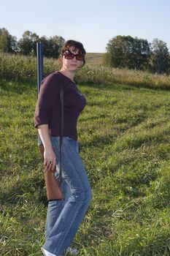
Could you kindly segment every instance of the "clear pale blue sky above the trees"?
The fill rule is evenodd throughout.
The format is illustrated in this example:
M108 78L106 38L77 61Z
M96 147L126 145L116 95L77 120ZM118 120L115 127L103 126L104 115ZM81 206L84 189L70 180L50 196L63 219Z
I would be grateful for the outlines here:
M0 28L17 39L27 30L39 37L74 39L87 53L106 52L117 35L148 42L158 38L170 50L170 1L0 0Z

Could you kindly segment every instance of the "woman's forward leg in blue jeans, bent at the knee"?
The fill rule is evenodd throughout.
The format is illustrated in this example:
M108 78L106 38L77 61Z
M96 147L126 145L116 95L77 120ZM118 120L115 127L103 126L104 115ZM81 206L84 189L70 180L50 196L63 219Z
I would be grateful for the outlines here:
M88 177L77 153L77 142L69 138L63 138L62 167L63 178L71 189L71 196L64 203L43 246L55 255L62 255L71 244L91 199Z

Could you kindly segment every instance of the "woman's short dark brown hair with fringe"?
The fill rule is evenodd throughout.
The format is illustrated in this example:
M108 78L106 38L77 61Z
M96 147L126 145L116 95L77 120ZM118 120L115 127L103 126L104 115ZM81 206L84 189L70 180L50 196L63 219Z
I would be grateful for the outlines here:
M69 50L70 47L74 48L73 51L78 50L78 53L82 53L83 55L85 55L85 53L86 53L85 48L81 42L77 42L74 40L68 40L68 41L64 42L64 44L61 48L61 53L60 53L59 59L61 59L63 57L64 53L66 53L66 50ZM84 65L85 65L85 58L83 59L82 67Z

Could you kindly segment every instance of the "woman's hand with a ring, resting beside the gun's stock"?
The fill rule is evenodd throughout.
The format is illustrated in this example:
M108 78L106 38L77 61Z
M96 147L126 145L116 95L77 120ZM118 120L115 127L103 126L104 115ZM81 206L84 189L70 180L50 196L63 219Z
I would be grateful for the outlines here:
M56 170L56 159L55 159L55 154L53 149L45 149L44 152L44 166L46 170L52 170L53 172L55 172Z

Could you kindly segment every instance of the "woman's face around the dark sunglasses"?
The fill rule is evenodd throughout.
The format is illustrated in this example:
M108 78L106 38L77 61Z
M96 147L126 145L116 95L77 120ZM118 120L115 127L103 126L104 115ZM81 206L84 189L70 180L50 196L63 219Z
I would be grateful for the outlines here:
M68 53L73 53L74 55L77 55L79 54L79 50L78 49L75 50L75 48L71 46L68 49ZM66 59L66 58L67 56L62 57L63 69L74 72L80 67L82 67L83 61L79 60L80 58L77 57L76 59L76 56L74 56L73 59Z

